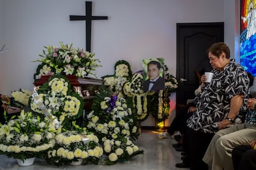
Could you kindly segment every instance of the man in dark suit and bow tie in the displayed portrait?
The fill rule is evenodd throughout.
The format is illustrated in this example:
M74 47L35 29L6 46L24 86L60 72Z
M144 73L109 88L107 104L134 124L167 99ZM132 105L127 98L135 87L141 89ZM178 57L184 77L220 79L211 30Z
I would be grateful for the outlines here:
M143 91L160 91L164 89L164 78L160 76L161 64L152 60L148 62L148 79L143 82Z

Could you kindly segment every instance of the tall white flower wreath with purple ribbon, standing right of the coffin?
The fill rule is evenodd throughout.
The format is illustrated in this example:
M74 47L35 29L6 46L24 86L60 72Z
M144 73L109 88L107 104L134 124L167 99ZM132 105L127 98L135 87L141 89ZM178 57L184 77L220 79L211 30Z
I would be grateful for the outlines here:
M137 118L119 98L106 87L101 87L93 100L92 111L87 115L87 128L103 143L106 164L127 160L143 153L131 140L139 137Z

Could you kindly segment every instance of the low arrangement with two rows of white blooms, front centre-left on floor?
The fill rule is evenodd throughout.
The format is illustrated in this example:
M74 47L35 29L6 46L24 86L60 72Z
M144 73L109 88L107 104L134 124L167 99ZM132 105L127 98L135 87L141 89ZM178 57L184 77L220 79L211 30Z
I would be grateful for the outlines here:
M46 160L49 163L61 166L80 158L83 164L92 162L97 164L103 155L103 148L98 144L98 137L87 132L77 133L66 131L55 136L56 144L48 151Z

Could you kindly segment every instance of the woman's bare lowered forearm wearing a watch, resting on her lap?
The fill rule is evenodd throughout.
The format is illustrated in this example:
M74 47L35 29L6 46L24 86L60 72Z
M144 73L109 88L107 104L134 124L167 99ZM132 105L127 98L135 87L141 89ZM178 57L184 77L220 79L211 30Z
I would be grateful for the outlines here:
M224 129L228 124L233 123L242 106L243 99L244 95L242 94L237 94L232 97L230 101L230 110L228 116L220 122L218 125L219 129Z

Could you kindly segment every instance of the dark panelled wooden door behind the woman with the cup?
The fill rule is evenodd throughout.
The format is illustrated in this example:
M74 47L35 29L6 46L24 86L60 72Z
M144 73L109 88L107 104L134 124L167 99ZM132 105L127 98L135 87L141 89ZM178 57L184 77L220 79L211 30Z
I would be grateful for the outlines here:
M194 91L199 86L195 69L201 73L211 70L206 51L211 44L220 41L224 41L223 22L177 23L177 105L194 99Z

